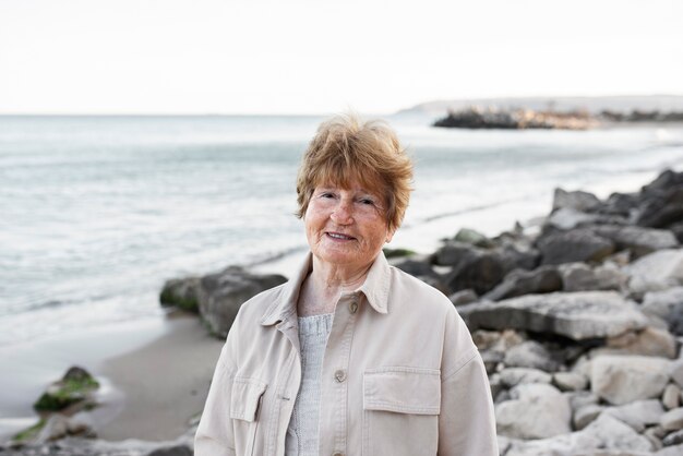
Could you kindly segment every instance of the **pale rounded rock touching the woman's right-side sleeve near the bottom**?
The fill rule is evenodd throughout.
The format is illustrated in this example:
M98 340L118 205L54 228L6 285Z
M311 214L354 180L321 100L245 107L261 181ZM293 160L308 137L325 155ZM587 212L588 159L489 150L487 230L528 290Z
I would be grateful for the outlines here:
M572 432L568 399L554 386L527 383L511 389L512 400L495 408L498 432L516 439L544 439Z

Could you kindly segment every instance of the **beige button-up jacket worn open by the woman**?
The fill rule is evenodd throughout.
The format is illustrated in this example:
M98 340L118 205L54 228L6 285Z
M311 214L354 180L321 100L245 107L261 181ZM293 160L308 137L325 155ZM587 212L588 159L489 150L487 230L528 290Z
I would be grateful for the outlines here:
M297 299L288 283L244 303L228 335L196 456L284 455L301 381ZM320 455L498 456L481 357L455 308L381 253L343 296L325 348Z

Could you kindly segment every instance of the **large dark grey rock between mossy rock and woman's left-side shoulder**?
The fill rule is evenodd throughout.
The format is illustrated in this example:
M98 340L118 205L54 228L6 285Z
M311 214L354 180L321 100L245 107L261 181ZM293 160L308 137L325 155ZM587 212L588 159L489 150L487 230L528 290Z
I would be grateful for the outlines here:
M245 301L285 281L280 275L255 275L238 266L206 275L200 283L200 314L214 335L225 338Z

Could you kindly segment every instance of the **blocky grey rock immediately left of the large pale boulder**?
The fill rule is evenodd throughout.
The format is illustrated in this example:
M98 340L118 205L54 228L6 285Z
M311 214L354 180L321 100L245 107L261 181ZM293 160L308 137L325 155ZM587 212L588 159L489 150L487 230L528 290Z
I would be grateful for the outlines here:
M585 263L567 263L560 266L564 291L621 290L627 276L616 266L592 268Z

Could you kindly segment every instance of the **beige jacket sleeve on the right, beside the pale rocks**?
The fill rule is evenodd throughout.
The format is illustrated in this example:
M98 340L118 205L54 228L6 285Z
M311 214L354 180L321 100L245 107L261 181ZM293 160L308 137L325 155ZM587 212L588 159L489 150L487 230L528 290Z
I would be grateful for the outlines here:
M487 371L469 331L453 309L442 362L440 456L498 456L495 413Z

